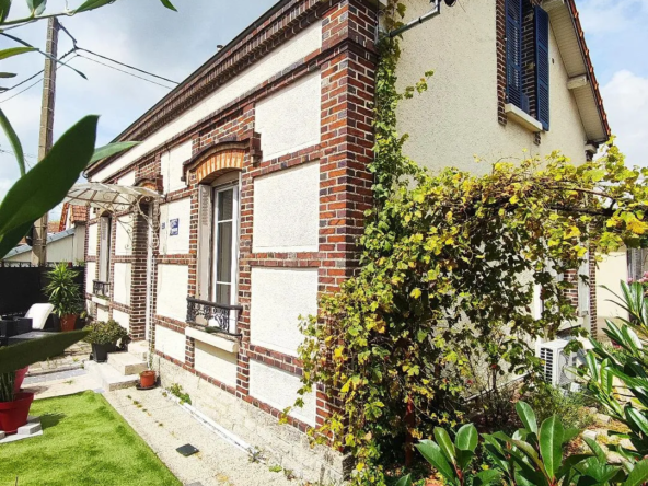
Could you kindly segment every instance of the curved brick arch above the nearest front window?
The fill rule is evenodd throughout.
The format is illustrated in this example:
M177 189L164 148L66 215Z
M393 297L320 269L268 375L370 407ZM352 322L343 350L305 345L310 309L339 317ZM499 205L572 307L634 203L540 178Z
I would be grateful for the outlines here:
M243 170L248 141L217 142L207 146L185 163L185 181L209 184L219 176Z

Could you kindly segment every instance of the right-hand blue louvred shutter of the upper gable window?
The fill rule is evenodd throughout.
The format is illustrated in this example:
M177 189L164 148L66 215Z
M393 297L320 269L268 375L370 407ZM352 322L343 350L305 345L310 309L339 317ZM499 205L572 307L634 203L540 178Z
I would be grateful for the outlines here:
M549 16L535 7L535 93L537 120L549 129Z

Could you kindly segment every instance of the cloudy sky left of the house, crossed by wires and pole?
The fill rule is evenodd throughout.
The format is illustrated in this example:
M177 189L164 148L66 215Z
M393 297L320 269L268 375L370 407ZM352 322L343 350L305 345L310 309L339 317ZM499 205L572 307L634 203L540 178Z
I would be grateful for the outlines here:
M276 0L173 0L178 12L162 7L160 0L119 0L102 9L62 18L62 25L77 38L78 45L164 78L182 81L267 11ZM70 7L81 0L70 0ZM13 0L10 19L27 13L25 0ZM47 12L62 11L66 2L49 0ZM46 22L16 28L12 33L45 49ZM72 47L60 33L59 56ZM0 38L0 49L15 44ZM88 55L88 57L92 57ZM71 58L68 57L67 59ZM101 60L101 59L99 59ZM102 60L102 62L104 62ZM1 71L16 72L13 80L0 80L11 86L43 69L39 54L27 54L2 61ZM101 115L97 146L108 143L125 128L162 99L169 89L144 82L121 72L78 57L70 66L88 80L65 67L57 71L55 139L88 114ZM37 78L38 79L38 78ZM34 81L37 81L34 79ZM160 81L162 84L171 85ZM28 86L26 83L0 93L0 108L19 135L27 164L36 163L40 118L42 83L24 93L10 96ZM8 101L7 101L8 100ZM19 177L11 146L0 135L0 199ZM60 209L50 219L58 218Z

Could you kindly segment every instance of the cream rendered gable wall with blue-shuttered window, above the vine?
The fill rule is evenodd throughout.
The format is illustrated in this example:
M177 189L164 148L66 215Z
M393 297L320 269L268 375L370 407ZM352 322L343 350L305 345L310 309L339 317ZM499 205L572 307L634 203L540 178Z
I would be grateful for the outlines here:
M427 0L405 3L404 22L435 8ZM454 166L483 174L499 160L544 159L554 151L578 164L608 141L576 0L439 3L440 15L405 32L401 42L402 89L435 71L429 90L400 106L408 157L432 171ZM564 278L574 282L569 297L578 324L597 335L594 258ZM540 314L540 296L535 308Z

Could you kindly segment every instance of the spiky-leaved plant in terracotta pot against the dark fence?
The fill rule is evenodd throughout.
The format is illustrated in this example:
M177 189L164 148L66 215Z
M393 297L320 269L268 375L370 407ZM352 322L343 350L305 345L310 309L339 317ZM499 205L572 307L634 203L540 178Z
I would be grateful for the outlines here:
M45 292L49 303L54 305L54 312L60 317L62 332L74 331L77 319L83 311L80 286L74 282L78 276L79 271L65 263L59 263L47 273L49 284L45 287Z

